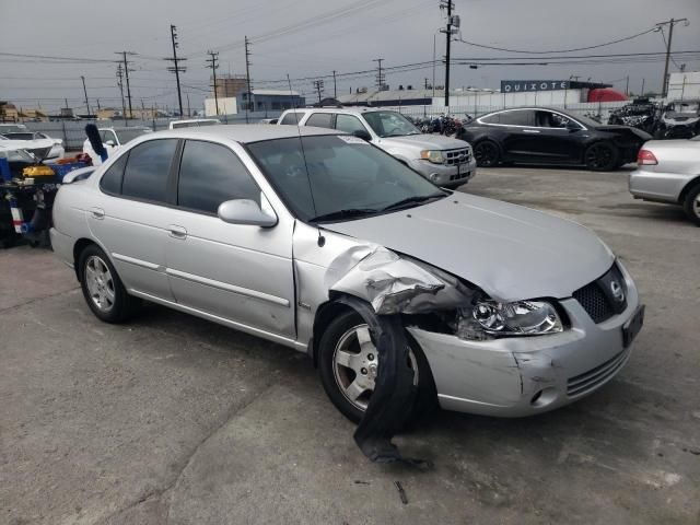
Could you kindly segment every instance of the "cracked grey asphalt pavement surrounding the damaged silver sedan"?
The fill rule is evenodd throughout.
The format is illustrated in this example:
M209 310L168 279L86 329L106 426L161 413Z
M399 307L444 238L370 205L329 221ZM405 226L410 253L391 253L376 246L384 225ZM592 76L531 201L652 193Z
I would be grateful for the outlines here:
M462 190L581 222L621 257L646 323L603 389L527 419L438 412L396 440L433 470L373 465L305 355L155 305L103 324L72 270L12 248L0 524L700 523L700 229L634 201L625 171L480 170Z

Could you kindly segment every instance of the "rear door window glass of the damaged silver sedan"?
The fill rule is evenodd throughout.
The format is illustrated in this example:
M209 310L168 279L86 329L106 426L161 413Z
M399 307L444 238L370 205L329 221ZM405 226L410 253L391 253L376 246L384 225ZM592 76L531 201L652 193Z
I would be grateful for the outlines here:
M137 199L165 202L167 175L177 140L151 140L131 149L124 171L121 194Z

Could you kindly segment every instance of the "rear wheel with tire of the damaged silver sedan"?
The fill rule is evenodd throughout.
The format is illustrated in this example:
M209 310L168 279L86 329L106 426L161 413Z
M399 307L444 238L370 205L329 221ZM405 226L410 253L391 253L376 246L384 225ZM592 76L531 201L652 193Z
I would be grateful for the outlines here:
M91 245L81 252L78 279L88 306L105 323L124 323L141 305L140 299L127 293L117 270L98 246Z

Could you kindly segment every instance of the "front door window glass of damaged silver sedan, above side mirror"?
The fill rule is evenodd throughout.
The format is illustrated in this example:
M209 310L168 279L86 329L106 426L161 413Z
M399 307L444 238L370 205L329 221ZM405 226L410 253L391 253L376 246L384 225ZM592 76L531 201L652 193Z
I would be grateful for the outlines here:
M217 213L232 199L260 202L260 189L238 156L211 142L185 142L177 183L177 203L184 208Z

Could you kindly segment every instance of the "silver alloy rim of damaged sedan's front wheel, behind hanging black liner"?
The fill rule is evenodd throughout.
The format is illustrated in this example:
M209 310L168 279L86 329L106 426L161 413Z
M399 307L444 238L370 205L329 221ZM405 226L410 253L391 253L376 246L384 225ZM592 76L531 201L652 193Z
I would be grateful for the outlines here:
M408 358L408 364L413 370L413 385L418 385L418 363L410 348ZM338 340L332 354L332 374L340 393L360 410L368 408L378 364L376 347L368 325L350 328Z

